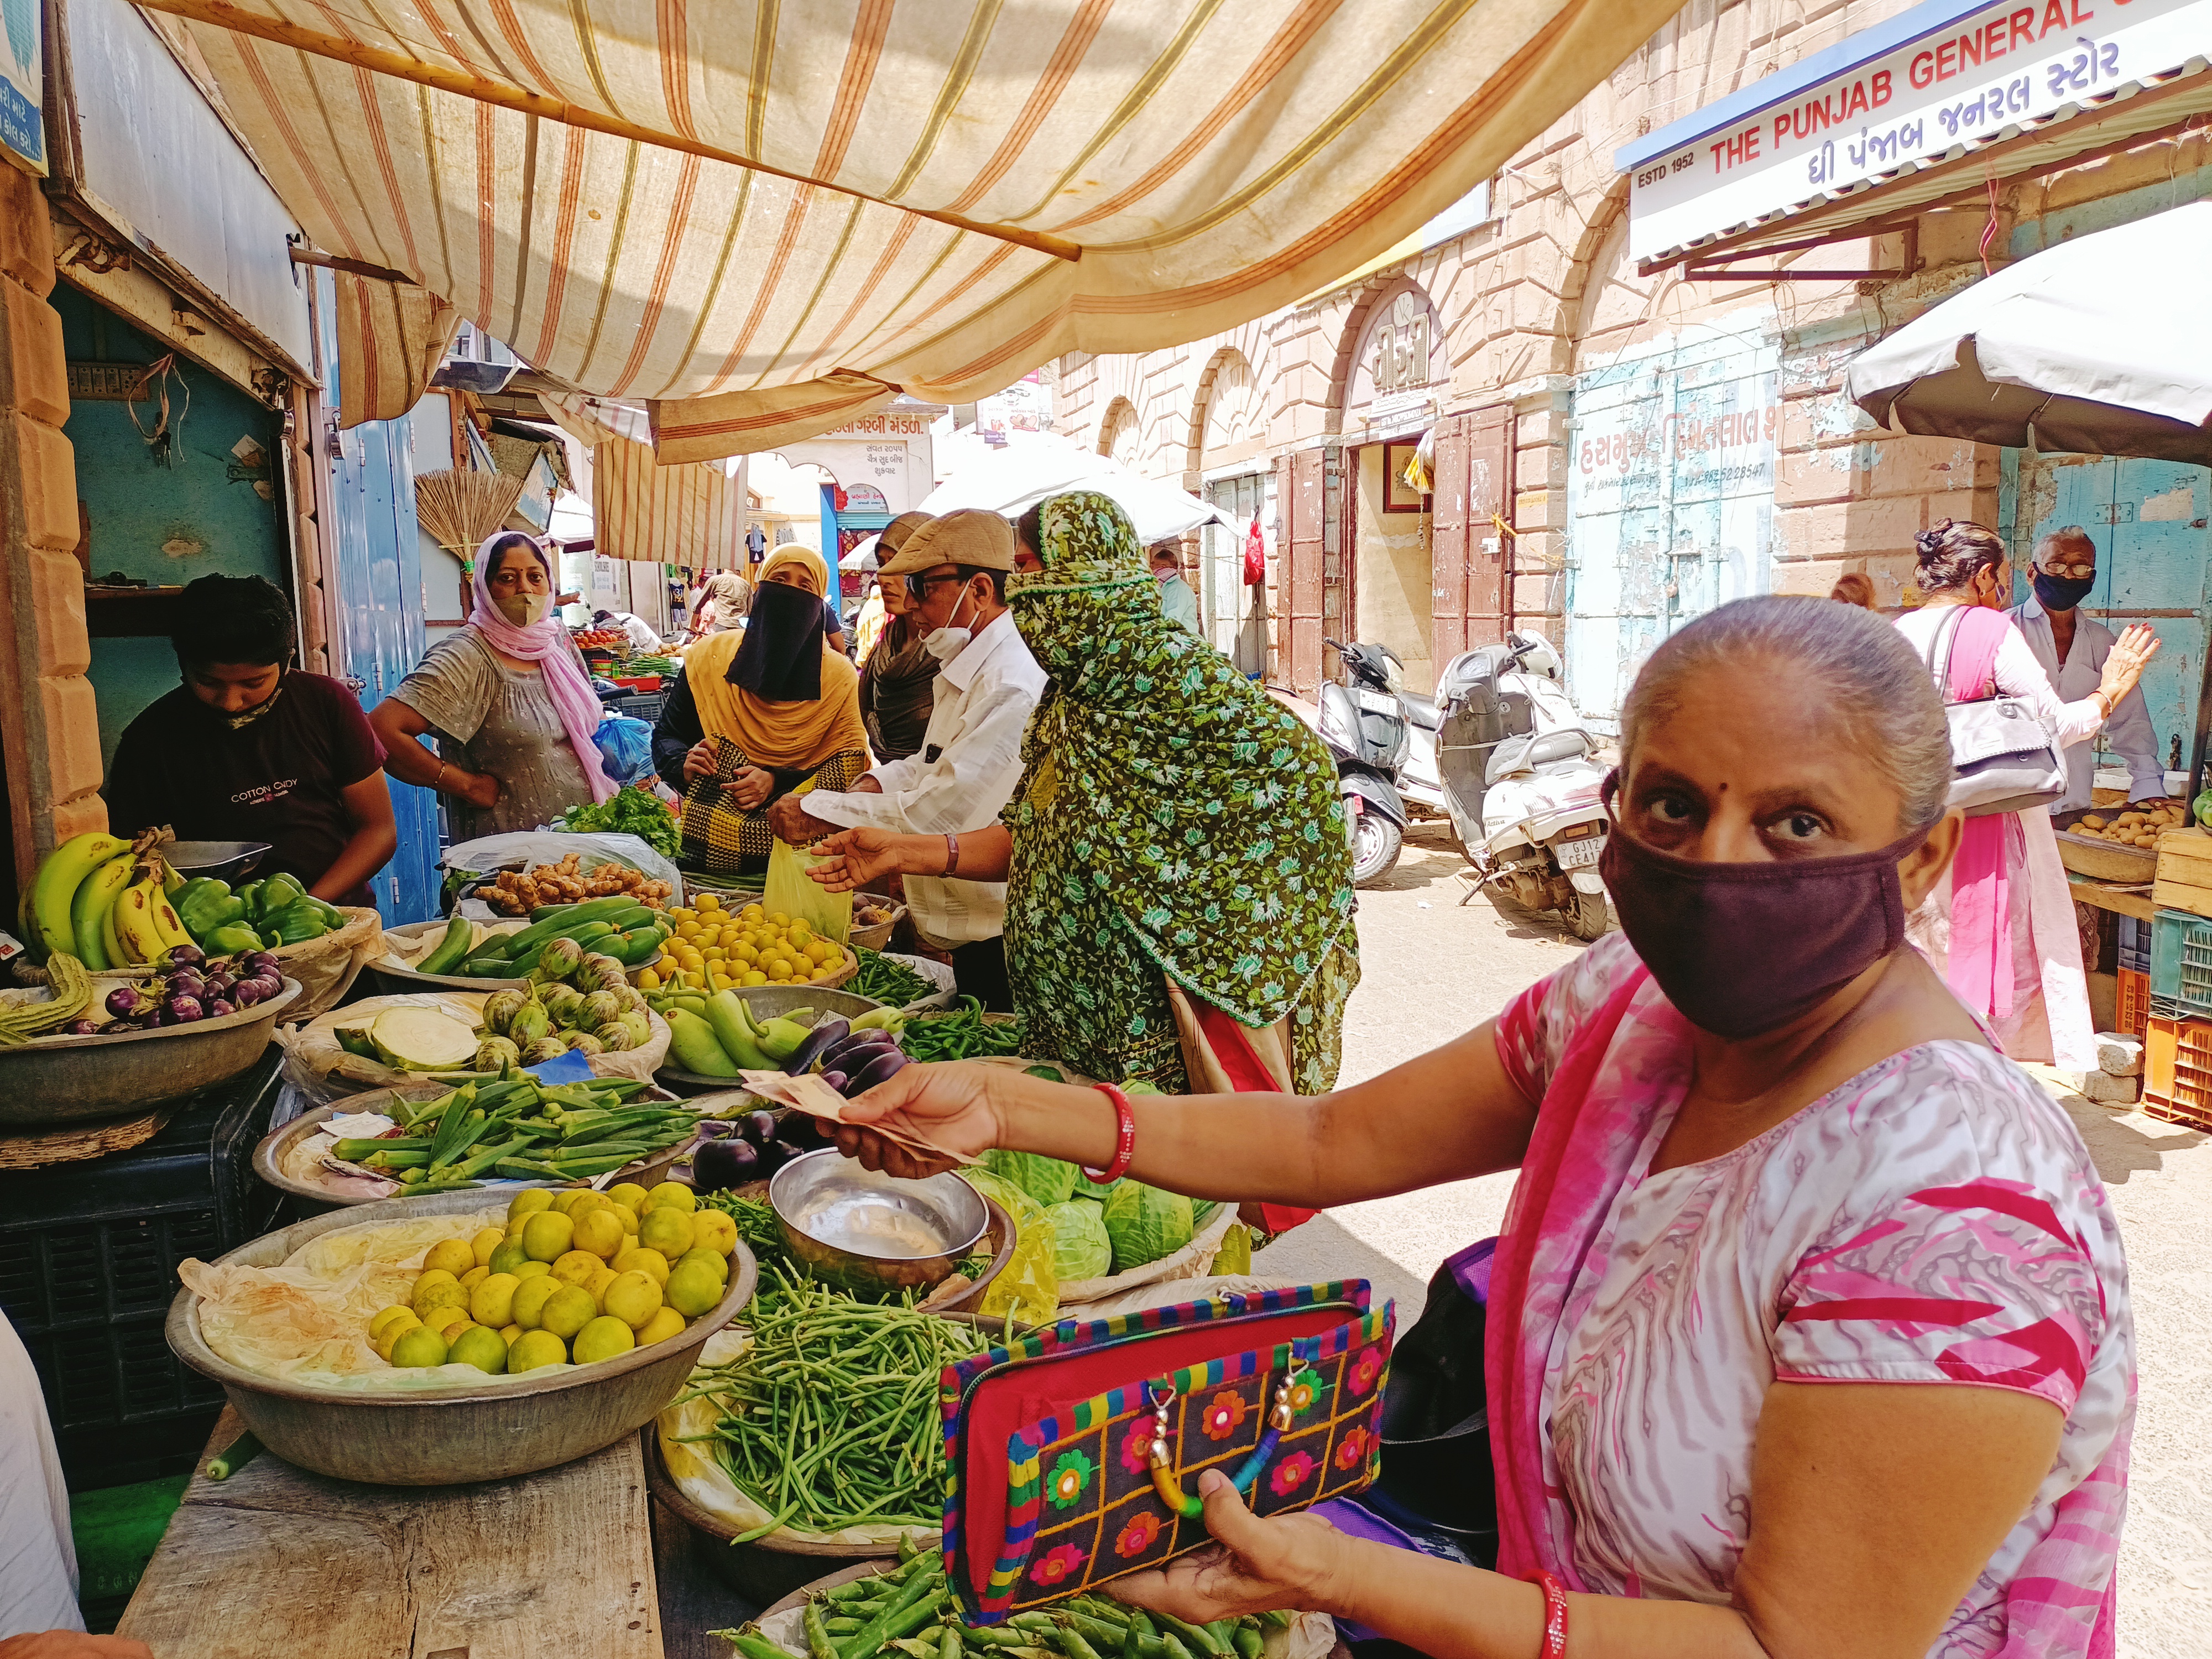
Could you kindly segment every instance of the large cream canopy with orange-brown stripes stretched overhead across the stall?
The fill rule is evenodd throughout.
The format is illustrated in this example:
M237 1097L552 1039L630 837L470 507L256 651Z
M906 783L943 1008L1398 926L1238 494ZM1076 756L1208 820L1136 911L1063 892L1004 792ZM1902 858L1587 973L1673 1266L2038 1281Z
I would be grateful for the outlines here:
M650 403L661 460L1287 305L1679 4L150 0L321 248Z

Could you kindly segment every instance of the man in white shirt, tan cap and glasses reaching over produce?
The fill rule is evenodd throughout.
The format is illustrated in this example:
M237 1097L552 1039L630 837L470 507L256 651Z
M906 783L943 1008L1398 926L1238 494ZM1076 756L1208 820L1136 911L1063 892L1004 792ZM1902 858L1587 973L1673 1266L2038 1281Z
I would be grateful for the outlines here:
M1006 611L1011 573L1013 529L998 513L947 513L914 531L883 577L907 584L922 644L942 664L920 754L885 761L847 792L787 794L768 812L792 845L863 825L945 836L947 874L907 876L907 909L925 945L951 951L960 991L995 1013L1013 1013L1006 885L960 880L953 838L991 827L1013 799L1022 732L1044 695L1046 675Z

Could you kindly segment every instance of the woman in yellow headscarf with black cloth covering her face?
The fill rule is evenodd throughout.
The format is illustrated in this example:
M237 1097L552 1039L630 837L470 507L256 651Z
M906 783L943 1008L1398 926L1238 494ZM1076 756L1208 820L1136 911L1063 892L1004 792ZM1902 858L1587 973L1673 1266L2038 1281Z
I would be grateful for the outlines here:
M761 564L748 626L684 655L653 761L684 796L686 867L761 874L772 801L814 783L845 790L867 772L860 677L825 639L827 591L821 553L779 546Z

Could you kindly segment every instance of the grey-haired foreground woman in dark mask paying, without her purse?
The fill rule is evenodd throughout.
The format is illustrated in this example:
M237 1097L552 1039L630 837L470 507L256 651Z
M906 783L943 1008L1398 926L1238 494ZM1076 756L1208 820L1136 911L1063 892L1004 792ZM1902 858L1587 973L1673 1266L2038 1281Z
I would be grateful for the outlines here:
M1482 1367L1498 1571L1256 1520L1208 1471L1217 1542L1108 1588L1438 1659L2110 1655L2128 1270L2070 1119L1907 945L1960 841L1927 670L1851 606L1723 606L1644 666L1617 776L1621 931L1383 1077L1124 1113L909 1066L849 1108L1217 1199L1520 1170Z

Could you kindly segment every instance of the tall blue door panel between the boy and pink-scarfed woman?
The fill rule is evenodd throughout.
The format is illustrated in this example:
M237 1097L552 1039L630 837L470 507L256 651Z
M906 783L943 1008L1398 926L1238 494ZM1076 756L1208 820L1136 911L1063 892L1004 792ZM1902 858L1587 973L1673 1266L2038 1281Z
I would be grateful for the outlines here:
M338 407L336 296L319 272L325 407ZM341 434L330 460L334 524L325 540L338 597L338 650L358 681L361 706L376 708L422 659L422 544L414 511L414 445L405 420L369 420ZM385 925L438 914L438 805L429 790L389 781L400 845L369 883Z

